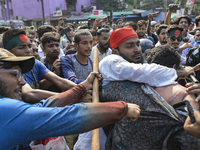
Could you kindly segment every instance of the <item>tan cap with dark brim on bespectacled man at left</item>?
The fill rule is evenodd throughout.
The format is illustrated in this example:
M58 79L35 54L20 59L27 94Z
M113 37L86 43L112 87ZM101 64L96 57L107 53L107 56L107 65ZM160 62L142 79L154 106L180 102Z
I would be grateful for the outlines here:
M31 71L35 65L34 56L17 57L8 50L0 48L0 62L18 62L22 73Z

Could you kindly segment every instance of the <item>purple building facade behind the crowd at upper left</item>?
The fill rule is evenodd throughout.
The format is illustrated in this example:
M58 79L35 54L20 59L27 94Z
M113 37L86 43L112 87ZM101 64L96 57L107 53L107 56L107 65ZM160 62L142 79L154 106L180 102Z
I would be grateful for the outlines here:
M42 3L43 6L42 7ZM0 18L4 20L23 20L29 24L69 18L71 15L88 12L96 0L0 0Z

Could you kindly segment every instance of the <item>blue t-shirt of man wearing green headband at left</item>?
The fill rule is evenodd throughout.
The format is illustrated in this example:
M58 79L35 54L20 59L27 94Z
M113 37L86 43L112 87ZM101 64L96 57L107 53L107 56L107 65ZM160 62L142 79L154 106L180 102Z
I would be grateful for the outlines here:
M43 63L35 59L35 66L33 70L24 74L24 80L33 89L39 89L39 81L42 80L42 77L47 72L49 72L49 69Z

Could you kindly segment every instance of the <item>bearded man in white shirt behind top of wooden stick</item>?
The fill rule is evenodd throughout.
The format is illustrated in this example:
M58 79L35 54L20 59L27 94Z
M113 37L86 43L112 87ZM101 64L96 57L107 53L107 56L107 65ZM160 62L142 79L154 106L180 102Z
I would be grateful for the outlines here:
M98 44L92 48L90 59L94 59L94 49L99 50L99 61L101 61L105 56L112 54L112 50L109 48L109 29L102 28L97 31L97 41Z

